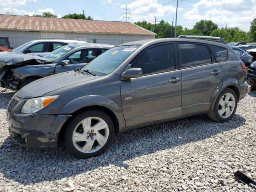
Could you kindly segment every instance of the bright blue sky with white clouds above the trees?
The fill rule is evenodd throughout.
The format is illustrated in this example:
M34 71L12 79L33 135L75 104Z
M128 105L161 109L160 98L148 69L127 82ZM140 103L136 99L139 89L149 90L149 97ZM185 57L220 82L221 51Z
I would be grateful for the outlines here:
M0 0L0 14L33 15L51 12L58 17L84 13L94 20L125 21L123 8L129 8L129 22L165 20L172 24L177 0ZM221 27L248 31L256 18L256 0L178 0L177 25L193 28L201 19L212 20Z

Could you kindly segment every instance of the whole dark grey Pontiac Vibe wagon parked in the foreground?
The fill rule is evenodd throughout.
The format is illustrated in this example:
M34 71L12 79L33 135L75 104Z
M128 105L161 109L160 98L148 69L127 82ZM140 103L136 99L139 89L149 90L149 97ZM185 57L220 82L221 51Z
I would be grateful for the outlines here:
M121 44L81 70L28 84L8 104L12 139L45 148L62 138L71 154L89 158L134 128L196 114L230 120L246 95L246 68L222 38L206 38Z

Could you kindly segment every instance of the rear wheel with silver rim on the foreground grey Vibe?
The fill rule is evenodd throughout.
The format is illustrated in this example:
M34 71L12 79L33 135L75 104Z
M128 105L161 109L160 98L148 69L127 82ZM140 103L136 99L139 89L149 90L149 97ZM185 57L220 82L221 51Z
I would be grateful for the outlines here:
M218 96L214 108L208 113L209 118L218 122L226 122L232 118L236 112L237 96L236 92L230 88L224 89Z

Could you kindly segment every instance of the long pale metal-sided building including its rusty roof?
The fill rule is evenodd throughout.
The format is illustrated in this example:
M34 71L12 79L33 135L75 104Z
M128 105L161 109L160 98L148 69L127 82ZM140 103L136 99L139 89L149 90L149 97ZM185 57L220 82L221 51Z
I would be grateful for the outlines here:
M0 36L16 48L37 39L70 39L118 45L155 38L156 34L130 22L0 15Z

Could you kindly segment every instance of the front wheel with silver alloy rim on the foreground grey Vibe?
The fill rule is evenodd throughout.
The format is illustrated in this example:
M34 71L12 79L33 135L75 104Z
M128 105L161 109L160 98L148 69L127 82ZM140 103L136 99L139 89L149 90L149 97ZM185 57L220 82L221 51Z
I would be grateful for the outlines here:
M88 110L75 116L65 133L69 152L78 158L102 154L114 138L114 124L101 110Z

